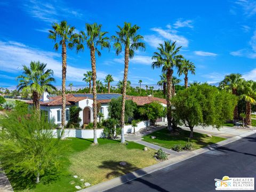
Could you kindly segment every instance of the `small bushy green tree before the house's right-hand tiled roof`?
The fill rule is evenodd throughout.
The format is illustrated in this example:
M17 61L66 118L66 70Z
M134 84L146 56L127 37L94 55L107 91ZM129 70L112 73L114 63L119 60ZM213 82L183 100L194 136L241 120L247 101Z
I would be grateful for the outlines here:
M141 116L146 116L151 123L155 124L156 119L166 116L165 107L159 102L151 102L139 108Z

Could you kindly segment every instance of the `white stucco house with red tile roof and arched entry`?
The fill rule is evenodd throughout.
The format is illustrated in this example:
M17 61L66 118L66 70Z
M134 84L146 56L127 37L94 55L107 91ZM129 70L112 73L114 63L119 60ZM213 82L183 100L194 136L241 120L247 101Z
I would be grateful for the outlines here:
M121 97L121 94L117 93L97 93L97 102L101 103L100 112L104 115L104 118L108 118L108 106L109 102L113 98ZM127 96L127 100L132 100L137 103L138 106L143 106L146 103L153 101L161 102L163 106L166 106L166 100L155 97L139 97L139 96ZM33 104L33 101L28 101L30 105ZM66 113L65 113L65 122L69 120L69 108L71 106L78 106L83 110L79 113L79 117L82 119L81 126L83 124L89 124L93 122L93 94L66 94ZM48 93L44 93L40 101L41 110L45 111L48 116L48 119L54 120L55 124L61 124L61 96L50 97Z

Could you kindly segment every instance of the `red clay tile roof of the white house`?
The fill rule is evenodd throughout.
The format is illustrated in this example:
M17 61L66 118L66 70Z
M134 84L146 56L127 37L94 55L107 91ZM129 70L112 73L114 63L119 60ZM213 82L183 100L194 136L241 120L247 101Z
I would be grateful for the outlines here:
M87 97L74 97L74 94L67 94L66 95L66 105L74 105L75 102L82 101L84 99L90 99ZM140 96L126 96L126 99L132 100L133 102L137 103L137 105L142 106L146 103L150 103L153 101L158 101L164 103L166 105L166 99L156 98L156 97L140 97ZM110 99L101 99L98 100L100 103L109 103ZM27 103L32 104L33 101L27 101ZM61 96L56 96L50 98L50 101L40 101L40 105L42 106L60 106L62 105Z

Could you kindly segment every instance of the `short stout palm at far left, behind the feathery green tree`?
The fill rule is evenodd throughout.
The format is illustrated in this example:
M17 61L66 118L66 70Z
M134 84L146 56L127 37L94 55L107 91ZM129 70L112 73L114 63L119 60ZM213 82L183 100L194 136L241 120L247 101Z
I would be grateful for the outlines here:
M38 117L40 117L40 98L43 92L57 91L56 87L51 84L55 82L52 77L53 70L46 70L45 67L45 63L31 61L29 67L23 65L23 74L17 77L19 81L18 91L32 93L33 105Z

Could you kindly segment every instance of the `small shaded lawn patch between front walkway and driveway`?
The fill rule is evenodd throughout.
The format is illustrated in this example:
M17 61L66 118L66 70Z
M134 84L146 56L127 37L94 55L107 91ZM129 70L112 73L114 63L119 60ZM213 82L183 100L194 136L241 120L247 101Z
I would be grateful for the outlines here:
M190 131L181 129L175 133L170 133L170 131L168 131L167 129L162 129L144 136L143 141L147 141L155 145L171 149L174 145L179 143L181 145L185 145L185 143L188 141L189 133ZM151 139L151 136L153 135L156 136L156 139ZM193 149L199 149L201 147L211 145L222 140L225 140L225 138L214 136L212 136L212 138L209 138L206 134L194 132L194 137L193 139L190 139L190 142L193 143Z

